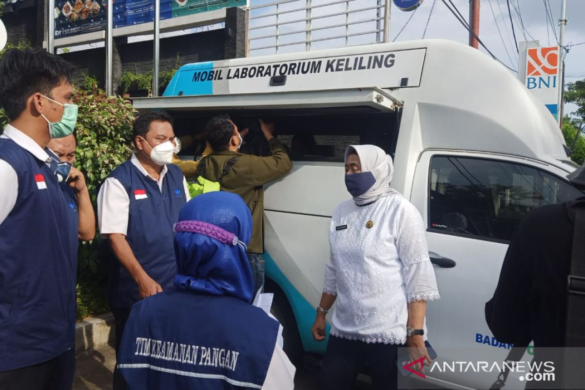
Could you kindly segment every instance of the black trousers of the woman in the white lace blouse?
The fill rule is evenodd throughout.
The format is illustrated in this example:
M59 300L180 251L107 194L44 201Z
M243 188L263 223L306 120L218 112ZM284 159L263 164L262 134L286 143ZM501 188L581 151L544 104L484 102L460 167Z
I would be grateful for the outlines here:
M392 344L367 344L363 341L346 340L329 336L321 368L320 390L353 389L357 374L368 364L372 388L396 389L398 346Z

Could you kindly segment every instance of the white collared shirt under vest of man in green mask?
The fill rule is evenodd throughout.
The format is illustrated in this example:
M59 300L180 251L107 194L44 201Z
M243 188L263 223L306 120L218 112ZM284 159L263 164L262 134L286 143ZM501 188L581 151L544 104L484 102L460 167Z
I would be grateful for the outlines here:
M25 149L35 158L50 165L51 157L32 138L16 129L12 125L6 125L1 138L7 138ZM18 176L12 165L0 159L0 224L4 222L8 214L14 208L18 198Z

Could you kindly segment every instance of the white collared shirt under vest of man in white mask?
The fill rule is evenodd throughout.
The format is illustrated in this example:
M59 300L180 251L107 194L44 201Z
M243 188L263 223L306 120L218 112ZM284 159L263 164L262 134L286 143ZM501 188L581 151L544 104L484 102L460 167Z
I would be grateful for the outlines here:
M166 165L163 165L159 175L159 180L154 179L144 169L140 161L136 157L136 154L132 154L130 162L135 165L136 168L144 176L150 180L156 181L159 184L160 192L163 192L163 178L168 172ZM191 199L189 195L189 189L187 188L187 180L183 177L183 187L185 189L185 198L187 202ZM128 192L118 179L108 177L99 189L98 194L98 226L99 234L102 238L105 238L108 234L121 233L126 236L128 233L128 218L130 210L130 198Z

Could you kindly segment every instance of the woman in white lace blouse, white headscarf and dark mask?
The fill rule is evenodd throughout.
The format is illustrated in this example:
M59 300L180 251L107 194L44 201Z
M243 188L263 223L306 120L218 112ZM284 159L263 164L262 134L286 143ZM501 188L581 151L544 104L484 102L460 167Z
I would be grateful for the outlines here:
M379 147L347 147L345 182L353 200L333 211L331 259L312 327L314 339L325 340L325 315L337 302L321 389L353 388L366 362L374 388L396 388L395 361L404 344L411 361L431 363L422 329L426 302L439 292L421 215L390 188L393 171Z

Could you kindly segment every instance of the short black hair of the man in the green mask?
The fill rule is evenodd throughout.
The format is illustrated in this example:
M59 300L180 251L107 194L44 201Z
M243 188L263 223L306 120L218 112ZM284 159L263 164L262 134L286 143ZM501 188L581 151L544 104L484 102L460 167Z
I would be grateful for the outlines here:
M71 82L74 66L40 49L9 49L0 61L0 106L9 120L26 109L26 99L40 92L50 96L61 82Z

